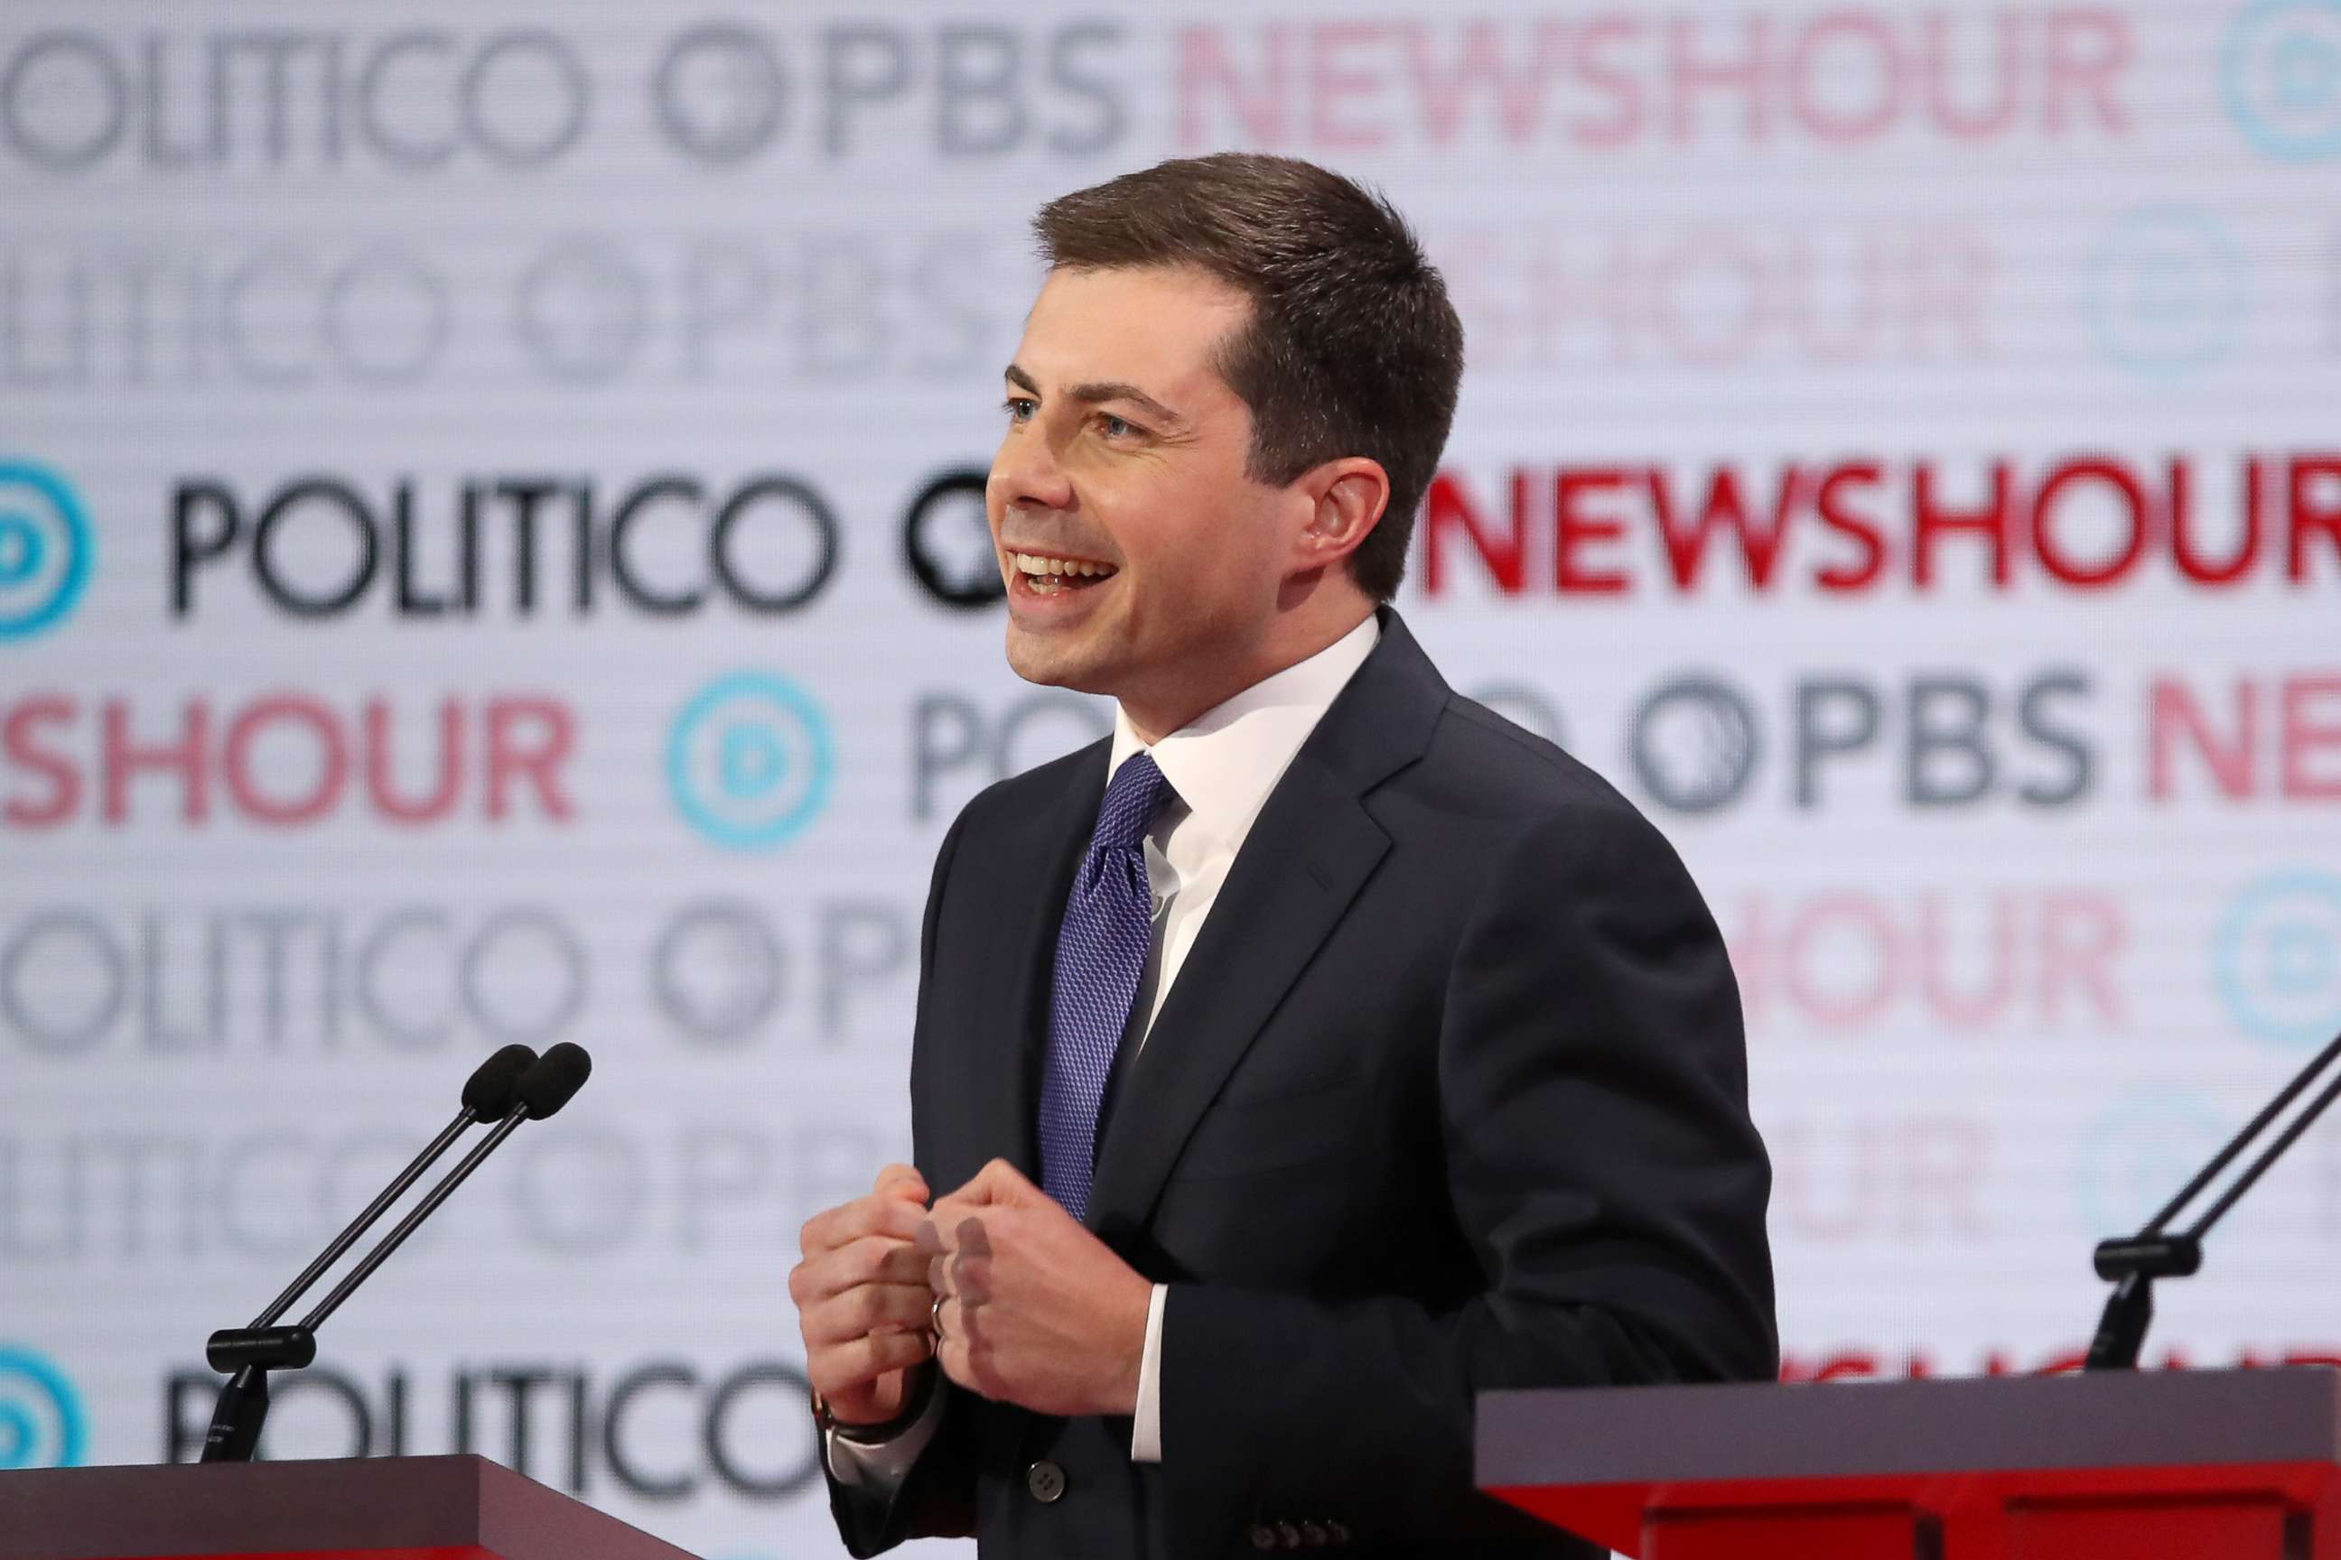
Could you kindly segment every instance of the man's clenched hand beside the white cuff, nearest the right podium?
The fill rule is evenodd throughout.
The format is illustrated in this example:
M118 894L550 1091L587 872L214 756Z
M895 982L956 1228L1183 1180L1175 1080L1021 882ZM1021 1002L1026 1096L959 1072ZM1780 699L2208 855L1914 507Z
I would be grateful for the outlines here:
M1014 1165L936 1202L918 1244L946 1296L943 1375L1035 1413L1138 1410L1154 1286Z

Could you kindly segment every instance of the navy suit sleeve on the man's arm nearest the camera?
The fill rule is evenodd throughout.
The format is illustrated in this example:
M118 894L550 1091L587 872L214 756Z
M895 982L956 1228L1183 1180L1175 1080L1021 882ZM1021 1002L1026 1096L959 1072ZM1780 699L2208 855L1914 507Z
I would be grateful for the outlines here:
M1173 1284L1173 1506L1339 1518L1360 1544L1494 1539L1526 1518L1472 1490L1475 1394L1777 1375L1739 992L1690 875L1622 800L1573 802L1503 854L1454 952L1437 1083L1484 1291L1430 1312Z

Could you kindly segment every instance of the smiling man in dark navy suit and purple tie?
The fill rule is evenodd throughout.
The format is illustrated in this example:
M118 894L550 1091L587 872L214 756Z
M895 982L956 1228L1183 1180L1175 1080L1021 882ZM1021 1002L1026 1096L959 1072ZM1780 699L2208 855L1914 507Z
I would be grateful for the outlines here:
M1594 1553L1472 1490L1472 1396L1777 1371L1723 940L1386 606L1461 377L1398 213L1231 154L1037 229L1009 660L1119 716L953 823L918 1167L805 1226L838 1527Z

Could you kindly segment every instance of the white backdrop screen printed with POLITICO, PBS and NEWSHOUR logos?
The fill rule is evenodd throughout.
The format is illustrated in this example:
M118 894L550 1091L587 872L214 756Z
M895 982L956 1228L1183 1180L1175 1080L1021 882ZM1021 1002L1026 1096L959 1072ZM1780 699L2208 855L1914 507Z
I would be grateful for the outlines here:
M1259 147L1468 330L1400 610L1721 919L1796 1378L2039 1371L2341 1029L2341 2L0 14L0 1466L267 1452L836 1553L787 1298L908 1153L1044 199ZM2341 1132L2149 1364L2341 1354Z

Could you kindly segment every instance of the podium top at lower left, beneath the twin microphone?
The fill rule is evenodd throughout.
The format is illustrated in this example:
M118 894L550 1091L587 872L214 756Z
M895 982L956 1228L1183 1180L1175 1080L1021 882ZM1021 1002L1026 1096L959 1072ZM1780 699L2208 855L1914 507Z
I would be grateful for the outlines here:
M0 1473L7 1560L693 1560L485 1457Z

